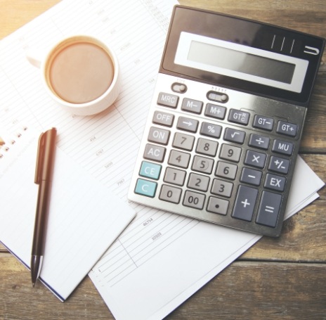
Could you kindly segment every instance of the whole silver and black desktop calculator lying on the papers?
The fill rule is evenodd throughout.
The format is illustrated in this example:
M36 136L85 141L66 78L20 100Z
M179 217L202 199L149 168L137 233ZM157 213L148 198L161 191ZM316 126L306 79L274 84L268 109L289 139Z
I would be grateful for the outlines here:
M280 236L324 46L175 6L129 200Z

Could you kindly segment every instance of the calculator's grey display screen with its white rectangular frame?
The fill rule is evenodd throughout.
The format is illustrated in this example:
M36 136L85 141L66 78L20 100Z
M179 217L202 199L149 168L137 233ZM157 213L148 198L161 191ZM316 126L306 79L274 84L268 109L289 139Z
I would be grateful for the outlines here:
M174 63L300 93L308 60L181 32Z

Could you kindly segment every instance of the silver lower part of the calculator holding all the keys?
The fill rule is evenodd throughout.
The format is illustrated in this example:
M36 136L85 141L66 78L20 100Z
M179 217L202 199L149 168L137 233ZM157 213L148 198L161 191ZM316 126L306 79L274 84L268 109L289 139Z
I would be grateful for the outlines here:
M191 94L191 85L173 94L157 89L129 199L278 236L305 113L289 119L297 106L286 105L275 116L273 103L250 105L246 99L237 108L233 94L246 94L231 90L221 103L211 103L207 97L213 91L199 98ZM174 82L167 88L174 89Z

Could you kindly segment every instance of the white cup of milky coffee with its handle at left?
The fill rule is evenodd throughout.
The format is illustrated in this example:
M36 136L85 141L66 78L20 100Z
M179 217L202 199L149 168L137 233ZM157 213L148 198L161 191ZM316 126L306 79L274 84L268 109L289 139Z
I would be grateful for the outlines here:
M47 93L70 113L100 113L119 95L117 56L96 37L66 37L46 53L27 52L27 59L40 68Z

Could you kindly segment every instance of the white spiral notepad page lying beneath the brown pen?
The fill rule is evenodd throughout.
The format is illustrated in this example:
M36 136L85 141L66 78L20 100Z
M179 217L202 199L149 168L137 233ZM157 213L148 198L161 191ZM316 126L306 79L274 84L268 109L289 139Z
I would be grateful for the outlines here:
M39 132L24 127L19 137L6 135L0 149L0 241L30 267ZM57 148L41 281L65 300L134 215L131 207Z

